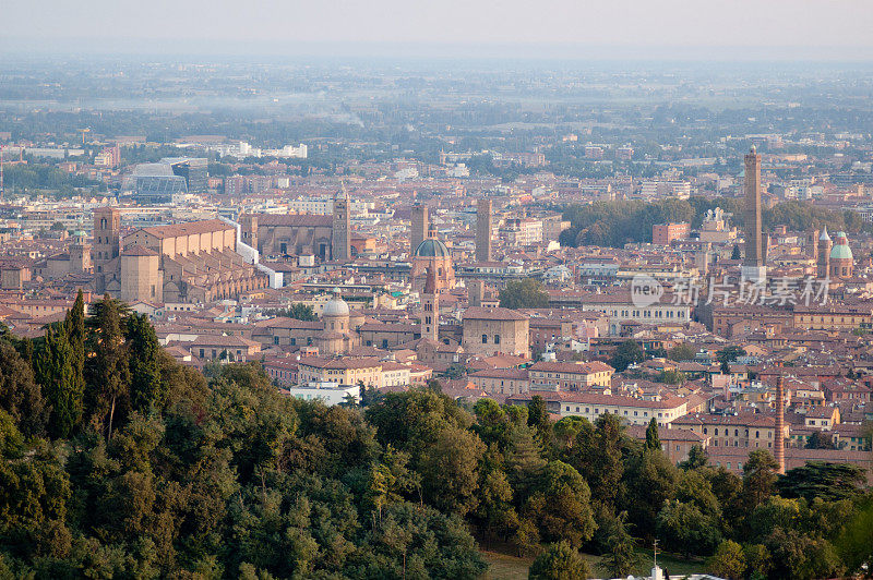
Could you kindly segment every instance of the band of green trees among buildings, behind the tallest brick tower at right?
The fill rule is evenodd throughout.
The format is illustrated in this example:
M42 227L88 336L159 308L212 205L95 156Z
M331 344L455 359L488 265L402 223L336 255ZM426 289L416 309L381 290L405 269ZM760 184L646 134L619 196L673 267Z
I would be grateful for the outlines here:
M689 200L659 200L656 202L614 201L590 205L574 204L564 209L564 219L571 227L561 232L564 246L601 245L622 247L626 243L651 242L651 227L668 221L687 221L693 228L701 226L706 212L720 207L733 214L731 223L743 227L743 201L740 197L691 197ZM764 227L772 229L785 225L792 231L827 226L832 232L858 233L870 231L870 225L851 210L833 212L806 202L784 202L764 208Z

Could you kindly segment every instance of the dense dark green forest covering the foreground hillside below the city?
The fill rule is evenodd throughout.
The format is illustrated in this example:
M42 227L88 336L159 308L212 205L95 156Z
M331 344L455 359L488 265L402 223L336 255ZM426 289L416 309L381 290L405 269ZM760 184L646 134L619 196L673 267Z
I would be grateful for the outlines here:
M283 397L258 363L206 377L106 297L38 340L0 337L0 578L477 578L479 546L531 578L638 569L659 539L729 578L822 578L873 558L851 466L777 476L679 467L614 415L553 422L439 384L363 407Z

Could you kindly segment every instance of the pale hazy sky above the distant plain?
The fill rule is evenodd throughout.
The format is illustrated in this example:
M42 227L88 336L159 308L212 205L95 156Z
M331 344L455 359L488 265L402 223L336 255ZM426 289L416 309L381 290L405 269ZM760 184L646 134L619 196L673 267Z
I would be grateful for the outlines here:
M406 45L873 56L872 0L22 0L3 2L0 14L4 50L291 53L326 44L334 53Z

